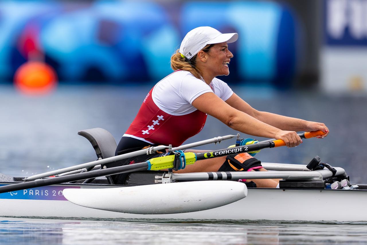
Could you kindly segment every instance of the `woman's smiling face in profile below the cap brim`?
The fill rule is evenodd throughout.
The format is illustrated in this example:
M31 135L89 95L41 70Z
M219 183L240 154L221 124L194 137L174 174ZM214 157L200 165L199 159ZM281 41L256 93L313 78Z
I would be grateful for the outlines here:
M221 75L229 75L229 62L233 54L228 50L228 44L217 43L206 53L205 73L213 78Z

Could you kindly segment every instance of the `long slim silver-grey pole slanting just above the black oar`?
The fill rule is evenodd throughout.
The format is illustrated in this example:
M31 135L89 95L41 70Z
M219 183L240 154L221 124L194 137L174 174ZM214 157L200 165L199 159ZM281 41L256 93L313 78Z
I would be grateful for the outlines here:
M188 149L188 148L201 146L201 145L206 145L206 144L210 144L210 143L219 143L222 140L230 139L230 138L233 138L233 137L236 137L236 136L235 135L218 136L218 137L214 137L212 139L206 139L206 140L195 142L195 143L181 145L181 146L172 148L172 150L183 150L183 149ZM153 151L163 150L163 149L166 149L166 148L168 148L168 146L159 145L159 146L153 147ZM139 155L144 155L144 154L147 154L146 149L137 150L136 152L130 152L130 153L122 154L122 155L119 155L119 156L108 157L108 158L105 158L105 159L91 161L91 162L88 162L88 163L83 163L83 164L79 164L79 165L75 165L75 166L71 166L71 167L52 170L52 171L49 171L49 172L46 172L46 173L32 175L28 178L25 178L24 180L25 181L37 180L37 179L49 177L49 176L52 176L52 175L62 174L62 173L66 173L66 172L70 172L70 171L74 171L74 170L81 170L82 168L94 167L94 166L99 165L99 164L111 163L113 161L119 161L119 160L127 159L129 157L134 157L134 156L139 156Z

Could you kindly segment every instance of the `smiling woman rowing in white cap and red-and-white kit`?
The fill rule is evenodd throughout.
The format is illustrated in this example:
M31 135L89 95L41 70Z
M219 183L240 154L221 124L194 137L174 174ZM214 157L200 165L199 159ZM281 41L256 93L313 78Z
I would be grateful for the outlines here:
M289 148L302 143L295 131L321 130L326 134L317 137L327 136L328 128L323 123L255 110L225 82L216 78L229 74L228 64L233 54L228 49L228 43L235 42L237 38L237 33L223 34L209 26L201 26L188 32L180 49L171 57L174 72L159 81L146 95L137 116L122 136L116 155L154 145L179 146L201 131L207 114L236 131L282 139ZM137 156L123 161L122 164L139 163L166 154ZM262 168L260 161L248 153L241 153L201 160L175 172L212 171L266 170ZM125 176L114 175L115 184L123 184ZM276 187L278 184L277 180L254 182L258 187Z

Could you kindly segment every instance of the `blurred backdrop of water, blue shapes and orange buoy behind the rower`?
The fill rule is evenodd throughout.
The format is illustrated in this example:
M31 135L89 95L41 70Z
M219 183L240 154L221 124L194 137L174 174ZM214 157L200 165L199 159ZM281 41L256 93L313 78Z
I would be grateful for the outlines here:
M118 142L172 72L183 36L206 25L239 33L230 75L219 77L238 95L331 131L262 150L260 160L307 164L319 155L352 182L367 181L367 0L1 1L0 171L26 176L95 160L77 131L105 128ZM236 132L208 118L187 143L226 134Z

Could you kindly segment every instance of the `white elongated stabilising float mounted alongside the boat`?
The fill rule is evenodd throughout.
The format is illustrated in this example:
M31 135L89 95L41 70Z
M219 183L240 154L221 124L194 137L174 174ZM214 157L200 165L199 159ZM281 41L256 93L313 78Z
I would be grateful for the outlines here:
M105 189L66 188L70 202L83 207L134 214L174 214L213 209L247 195L235 181L192 181Z

